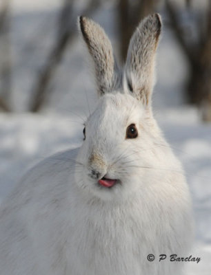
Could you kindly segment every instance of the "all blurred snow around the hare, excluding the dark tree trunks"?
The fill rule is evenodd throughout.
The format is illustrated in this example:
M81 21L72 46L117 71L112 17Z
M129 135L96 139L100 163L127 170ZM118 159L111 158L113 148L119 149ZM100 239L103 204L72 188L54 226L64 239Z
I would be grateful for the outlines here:
M83 121L92 111L96 96L84 47L76 39L50 84L48 107L35 115L26 113L32 80L44 62L54 38L51 24L59 0L12 1L13 91L11 102L20 113L0 113L0 201L17 184L21 175L52 153L81 144ZM110 18L110 20L108 20ZM101 23L117 44L112 11L99 11ZM27 24L26 24L27 22ZM39 32L42 23L43 32ZM39 35L39 40L33 39ZM26 47L26 42L29 42ZM170 31L165 28L157 55L157 85L153 105L166 139L181 159L188 178L196 220L196 244L185 263L187 275L210 275L211 270L211 125L203 124L197 109L183 104L183 85L188 76L185 58Z

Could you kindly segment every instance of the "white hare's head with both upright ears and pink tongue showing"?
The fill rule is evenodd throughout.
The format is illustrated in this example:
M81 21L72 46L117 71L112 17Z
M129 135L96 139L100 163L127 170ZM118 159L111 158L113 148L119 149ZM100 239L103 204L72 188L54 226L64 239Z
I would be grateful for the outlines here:
M161 137L152 117L151 95L161 18L152 14L141 21L123 69L97 23L80 17L79 28L94 61L100 99L83 130L78 182L102 199L122 198L147 184L147 167L159 163L154 143Z

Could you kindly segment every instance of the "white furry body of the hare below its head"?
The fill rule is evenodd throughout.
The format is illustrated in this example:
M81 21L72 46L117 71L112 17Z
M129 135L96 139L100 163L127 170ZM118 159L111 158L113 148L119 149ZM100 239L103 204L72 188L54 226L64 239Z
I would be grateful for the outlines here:
M163 147L163 154L169 151ZM142 187L125 201L102 202L74 186L67 160L76 153L39 164L2 207L0 274L178 275L181 263L159 263L159 254L186 256L190 245L183 177L165 171L150 190Z

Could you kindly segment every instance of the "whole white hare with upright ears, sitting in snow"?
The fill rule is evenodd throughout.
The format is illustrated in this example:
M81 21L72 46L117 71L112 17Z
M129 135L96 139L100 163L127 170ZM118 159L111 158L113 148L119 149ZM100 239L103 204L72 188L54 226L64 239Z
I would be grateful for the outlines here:
M188 256L192 210L151 109L161 18L141 21L122 70L97 23L79 29L101 98L81 147L38 164L1 206L0 274L179 275L169 256Z

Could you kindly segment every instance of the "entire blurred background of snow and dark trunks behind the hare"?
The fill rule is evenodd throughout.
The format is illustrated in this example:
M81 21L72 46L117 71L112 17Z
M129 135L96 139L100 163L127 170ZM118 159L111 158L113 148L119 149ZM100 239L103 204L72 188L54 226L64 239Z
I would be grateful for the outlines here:
M163 18L154 115L188 177L201 257L186 274L211 274L211 0L1 0L0 201L34 163L81 144L97 96L77 17L97 21L123 63L152 12Z

